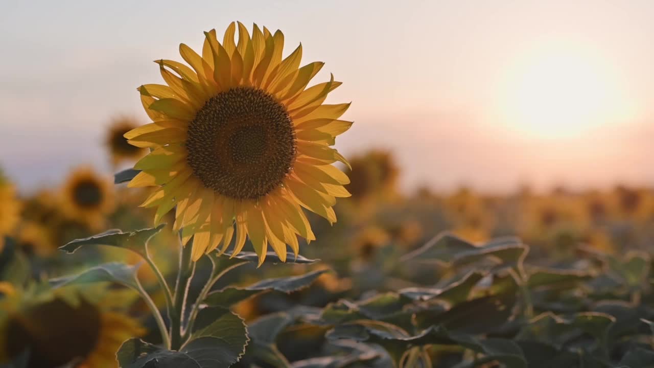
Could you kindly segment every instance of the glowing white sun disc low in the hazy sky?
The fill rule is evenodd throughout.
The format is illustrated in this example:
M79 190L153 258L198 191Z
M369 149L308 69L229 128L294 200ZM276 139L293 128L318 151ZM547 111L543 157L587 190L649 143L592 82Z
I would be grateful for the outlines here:
M618 69L579 47L528 52L509 67L502 86L502 120L536 138L585 136L628 114Z

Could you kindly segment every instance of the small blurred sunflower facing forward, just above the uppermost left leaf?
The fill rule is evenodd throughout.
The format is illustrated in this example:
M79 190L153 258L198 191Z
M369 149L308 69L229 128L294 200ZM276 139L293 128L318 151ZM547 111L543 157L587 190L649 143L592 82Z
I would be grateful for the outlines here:
M68 178L61 191L61 211L69 219L100 229L105 215L114 209L111 182L90 168L80 168Z

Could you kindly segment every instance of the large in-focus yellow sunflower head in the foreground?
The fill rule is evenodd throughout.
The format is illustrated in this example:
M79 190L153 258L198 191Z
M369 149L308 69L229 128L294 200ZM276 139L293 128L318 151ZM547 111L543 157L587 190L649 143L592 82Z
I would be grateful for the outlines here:
M167 85L138 88L152 123L126 134L129 143L153 151L134 168L130 187L156 187L142 206L156 207L155 223L177 206L174 229L192 257L226 250L234 254L250 238L260 262L267 244L286 259L298 238L315 239L301 207L334 223L336 197L349 196L347 164L334 139L352 122L338 120L349 103L324 104L341 83L334 77L307 88L322 62L300 67L302 46L282 58L284 35L254 25L252 34L230 24L222 44L205 32L200 56L179 47L190 67L159 60ZM234 221L235 220L235 221Z

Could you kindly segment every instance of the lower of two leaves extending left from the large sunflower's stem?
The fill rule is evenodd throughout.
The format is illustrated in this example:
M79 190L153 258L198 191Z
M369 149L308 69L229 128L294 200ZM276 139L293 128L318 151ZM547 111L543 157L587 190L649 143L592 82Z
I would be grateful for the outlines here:
M50 279L52 287L61 287L70 284L89 284L93 282L118 282L139 291L139 282L136 272L141 265L126 265L120 262L105 263L84 272L61 278Z

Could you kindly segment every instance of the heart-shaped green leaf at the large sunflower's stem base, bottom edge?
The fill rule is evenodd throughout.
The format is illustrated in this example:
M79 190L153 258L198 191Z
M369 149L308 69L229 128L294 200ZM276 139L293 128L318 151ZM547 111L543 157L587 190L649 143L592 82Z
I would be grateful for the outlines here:
M230 342L201 337L188 342L179 352L130 339L120 346L116 358L120 368L215 368L229 367L240 355L232 350Z

